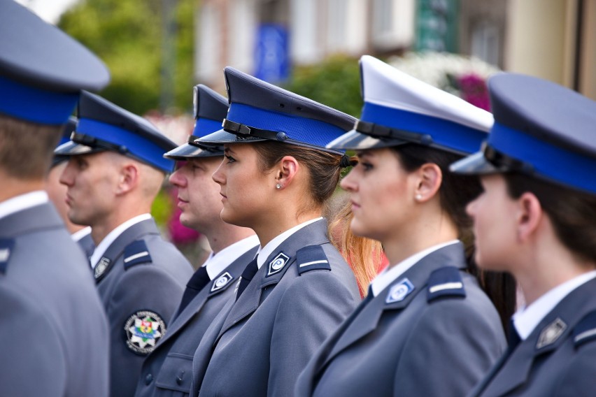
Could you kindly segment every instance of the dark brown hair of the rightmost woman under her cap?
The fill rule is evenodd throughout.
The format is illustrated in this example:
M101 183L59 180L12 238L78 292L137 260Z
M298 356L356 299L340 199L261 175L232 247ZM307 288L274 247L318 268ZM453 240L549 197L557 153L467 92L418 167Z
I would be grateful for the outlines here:
M534 194L551 219L555 234L581 261L596 263L596 196L520 173L504 174L507 192Z

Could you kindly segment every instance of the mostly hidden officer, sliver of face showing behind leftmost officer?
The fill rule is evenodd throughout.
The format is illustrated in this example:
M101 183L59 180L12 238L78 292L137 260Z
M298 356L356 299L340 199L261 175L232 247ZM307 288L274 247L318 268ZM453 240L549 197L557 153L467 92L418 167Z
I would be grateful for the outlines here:
M60 139L58 146L68 142L71 138L71 133L76 129L76 117L69 117L69 121L66 122L64 130L62 131L62 139ZM73 224L68 216L69 206L66 205L66 186L60 183L60 175L66 167L66 161L69 159L68 156L61 156L56 154L52 159L52 165L50 166L50 173L48 173L48 180L45 182L45 191L48 192L50 201L54 204L66 229L71 233L73 240L83 249L83 252L87 255L87 258L91 256L95 245L91 238L90 226L83 226Z

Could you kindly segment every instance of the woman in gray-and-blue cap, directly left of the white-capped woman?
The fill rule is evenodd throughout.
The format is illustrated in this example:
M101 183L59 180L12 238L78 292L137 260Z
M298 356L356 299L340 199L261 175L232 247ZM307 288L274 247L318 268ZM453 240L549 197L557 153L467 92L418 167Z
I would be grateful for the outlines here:
M349 164L325 145L355 119L234 68L225 79L225 131L197 142L225 145L213 174L221 217L253 229L261 249L195 352L193 392L291 396L308 359L360 302L321 217Z

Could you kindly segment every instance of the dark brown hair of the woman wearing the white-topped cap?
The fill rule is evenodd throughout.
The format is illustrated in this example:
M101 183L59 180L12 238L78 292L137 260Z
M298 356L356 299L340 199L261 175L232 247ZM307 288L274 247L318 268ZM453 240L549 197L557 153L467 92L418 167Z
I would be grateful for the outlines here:
M441 168L441 208L457 227L458 238L464 243L468 272L478 279L478 283L497 308L502 325L506 329L516 308L516 282L508 273L482 270L474 262L473 220L466 212L466 205L482 192L480 179L449 171L449 165L462 158L459 154L420 145L392 147L392 150L397 153L400 164L407 172L416 171L427 163L437 164Z

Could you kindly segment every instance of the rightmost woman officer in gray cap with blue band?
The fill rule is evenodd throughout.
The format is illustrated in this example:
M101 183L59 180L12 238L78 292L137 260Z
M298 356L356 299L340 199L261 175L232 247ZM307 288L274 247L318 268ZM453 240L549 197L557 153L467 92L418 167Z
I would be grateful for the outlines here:
M495 125L453 170L481 175L468 206L478 266L511 272L526 303L471 396L593 396L596 102L526 75L488 83Z

